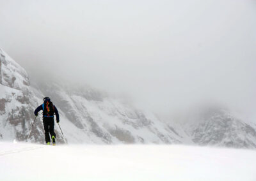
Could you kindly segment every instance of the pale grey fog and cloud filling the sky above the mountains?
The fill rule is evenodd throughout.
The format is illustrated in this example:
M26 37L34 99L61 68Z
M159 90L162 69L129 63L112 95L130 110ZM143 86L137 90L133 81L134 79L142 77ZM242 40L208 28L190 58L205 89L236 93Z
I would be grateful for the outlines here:
M3 1L0 47L42 77L160 115L218 103L256 120L256 3Z

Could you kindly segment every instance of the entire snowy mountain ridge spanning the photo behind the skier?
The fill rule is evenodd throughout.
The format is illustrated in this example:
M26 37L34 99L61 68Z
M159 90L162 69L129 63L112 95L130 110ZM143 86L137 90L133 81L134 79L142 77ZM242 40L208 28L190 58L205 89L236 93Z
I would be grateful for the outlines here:
M26 71L0 49L0 140L23 141L36 106L49 96L60 112L60 125L71 143L185 143L256 148L256 126L225 110L204 112L186 124L163 122L151 112L121 103L90 87L63 83L30 85ZM58 142L64 142L55 126ZM42 118L32 129L33 142L44 143Z

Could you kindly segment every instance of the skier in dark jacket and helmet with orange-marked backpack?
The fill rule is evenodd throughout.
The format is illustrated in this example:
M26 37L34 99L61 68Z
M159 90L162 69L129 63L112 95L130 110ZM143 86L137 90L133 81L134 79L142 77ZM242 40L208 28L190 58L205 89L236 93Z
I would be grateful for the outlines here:
M43 110L43 123L44 123L44 131L45 131L45 141L47 145L50 145L51 139L49 133L52 138L52 145L56 145L56 134L54 133L54 113L56 115L56 122L60 122L60 117L56 106L54 106L49 97L45 97L44 103L38 106L35 110L35 115L38 115L40 110Z

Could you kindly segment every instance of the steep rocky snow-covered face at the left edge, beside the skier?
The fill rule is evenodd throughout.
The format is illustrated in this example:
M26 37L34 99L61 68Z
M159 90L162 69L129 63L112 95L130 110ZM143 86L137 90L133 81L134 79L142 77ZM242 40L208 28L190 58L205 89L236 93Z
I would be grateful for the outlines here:
M25 140L37 100L29 91L26 71L0 49L0 140ZM42 124L36 122L33 141L43 141Z

